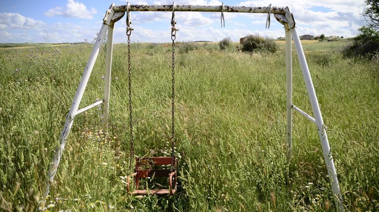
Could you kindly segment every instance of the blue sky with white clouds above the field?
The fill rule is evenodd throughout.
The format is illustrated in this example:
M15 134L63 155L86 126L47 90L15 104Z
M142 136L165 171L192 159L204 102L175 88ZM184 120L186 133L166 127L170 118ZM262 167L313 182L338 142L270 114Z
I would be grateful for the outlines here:
M127 0L0 0L0 43L93 42L112 3ZM176 0L175 4L221 5L218 0ZM234 6L288 6L299 35L355 37L365 25L364 0L224 0ZM172 4L168 0L134 0L130 4ZM131 12L132 42L171 42L171 12ZM126 43L124 16L114 29L114 43ZM267 14L176 12L176 41L239 41L246 35L284 37L283 25Z

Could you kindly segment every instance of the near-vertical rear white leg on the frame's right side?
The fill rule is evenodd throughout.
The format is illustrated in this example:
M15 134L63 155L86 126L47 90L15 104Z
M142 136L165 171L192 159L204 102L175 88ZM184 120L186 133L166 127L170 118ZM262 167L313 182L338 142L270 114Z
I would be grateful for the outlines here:
M286 70L287 70L287 159L291 161L292 153L292 38L291 31L286 31Z

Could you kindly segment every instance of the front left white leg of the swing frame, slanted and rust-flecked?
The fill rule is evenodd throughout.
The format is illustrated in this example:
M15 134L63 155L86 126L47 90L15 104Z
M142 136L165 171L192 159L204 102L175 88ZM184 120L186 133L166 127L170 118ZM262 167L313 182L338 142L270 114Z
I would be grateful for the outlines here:
M57 147L55 155L52 159L52 164L50 165L50 170L49 170L49 174L48 174L48 178L46 182L46 191L45 191L46 196L49 195L51 183L54 180L54 176L58 168L59 161L61 160L62 152L66 145L67 136L69 136L69 132L70 132L72 123L74 121L74 117L76 115L76 112L78 111L79 104L82 100L84 90L86 89L89 76L91 75L93 65L95 64L96 58L99 54L100 47L103 43L103 39L105 37L106 31L108 30L108 27L109 27L108 25L103 24L99 32L99 35L96 39L96 43L92 49L91 55L89 56L86 69L84 70L82 79L80 80L78 90L76 91L74 100L72 101L71 108L69 110L69 113L66 116L66 122L63 127L63 131L59 137L59 147Z

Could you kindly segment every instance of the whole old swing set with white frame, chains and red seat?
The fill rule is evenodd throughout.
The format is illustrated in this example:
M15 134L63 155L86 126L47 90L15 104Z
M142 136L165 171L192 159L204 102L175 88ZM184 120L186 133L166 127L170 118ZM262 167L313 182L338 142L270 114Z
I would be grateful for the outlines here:
M113 49L113 29L117 21L119 21L126 13L126 35L128 37L128 76L129 76L129 125L130 125L130 158L129 158L129 170L132 170L132 161L134 158L134 141L133 141L133 114L132 114L132 91L131 91L131 53L130 53L130 35L133 31L131 26L131 11L172 11L172 135L171 135L171 157L136 157L136 167L134 173L127 178L127 192L131 195L173 195L176 192L177 184L177 173L176 173L176 157L175 157L175 125L174 125L174 98L175 98L175 38L176 31L175 28L175 11L198 11L198 12L221 12L221 26L223 26L224 12L233 13L263 13L268 14L266 20L266 28L270 28L270 16L274 14L277 21L284 25L286 33L286 83L287 83L287 157L288 162L290 162L291 152L292 152L292 111L295 110L305 116L307 119L312 121L317 125L318 135L320 138L321 146L324 153L324 159L327 167L327 172L329 175L329 181L331 184L333 197L337 211L345 211L343 206L342 194L339 188L339 183L337 179L337 173L334 167L334 162L332 155L330 153L330 146L327 138L326 126L324 124L320 106L316 97L316 93L313 87L313 82L310 77L310 71L308 64L304 55L302 45L300 43L297 30L295 28L295 21L293 14L288 7L272 7L271 4L268 7L246 7L246 6L227 6L222 4L221 6L201 6L201 5L131 5L129 2L126 5L115 5L112 4L107 10L105 17L103 18L103 25L96 39L95 45L92 49L91 55L87 62L85 71L83 73L82 79L79 83L77 92L75 93L74 100L72 101L68 115L66 116L66 122L63 127L63 131L59 137L60 145L57 147L55 155L52 160L52 164L49 169L49 177L47 179L46 196L50 192L50 187L53 182L57 167L59 165L63 150L66 145L67 137L69 136L69 131L74 121L74 117L87 109L103 104L103 123L104 128L107 129L108 121L108 110L109 110L109 94L110 94L110 79L111 79L111 69L112 69L112 49ZM92 105L86 106L79 109L79 104L82 100L83 93L86 89L86 85L89 76L92 72L94 63L100 51L103 39L107 32L107 48L106 48L106 61L105 61L105 85L104 85L104 98ZM314 118L308 115L306 112L302 111L300 108L293 105L292 96L292 40L296 48L296 53L300 62L302 69L302 74L304 77L304 82L308 91L310 98L310 105L312 107L312 112ZM167 167L169 169L155 168L155 167ZM168 189L155 189L155 190L139 190L139 181L143 178L168 178L169 186ZM129 187L131 178L134 178L135 190L131 192Z

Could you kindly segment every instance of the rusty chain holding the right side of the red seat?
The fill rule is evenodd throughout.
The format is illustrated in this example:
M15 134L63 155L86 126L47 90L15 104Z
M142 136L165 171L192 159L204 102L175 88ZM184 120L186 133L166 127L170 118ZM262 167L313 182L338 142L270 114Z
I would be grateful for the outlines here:
M171 29L171 40L172 40L172 137L171 137L171 146L172 146L172 150L171 150L171 169L172 170L176 170L176 164L174 162L174 159L175 159L175 141L176 141L176 138L175 138L175 116L174 116L174 112L175 112L175 38L176 38L176 31L177 29L175 28L175 18L174 18L174 15L172 16L172 21L171 21L171 25L172 25L172 29Z

